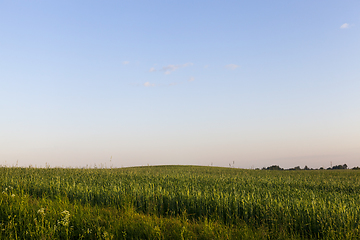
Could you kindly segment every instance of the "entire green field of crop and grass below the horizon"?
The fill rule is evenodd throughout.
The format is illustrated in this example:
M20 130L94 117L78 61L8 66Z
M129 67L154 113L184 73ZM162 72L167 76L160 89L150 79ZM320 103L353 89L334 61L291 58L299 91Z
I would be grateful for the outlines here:
M0 239L360 239L360 171L0 168Z

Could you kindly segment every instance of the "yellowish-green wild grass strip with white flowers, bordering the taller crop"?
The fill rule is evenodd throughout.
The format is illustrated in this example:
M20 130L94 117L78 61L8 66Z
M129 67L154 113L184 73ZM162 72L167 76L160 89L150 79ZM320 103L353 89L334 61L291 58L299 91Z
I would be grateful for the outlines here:
M2 197L1 212L0 239L267 239L270 234L245 224L228 227L192 222L187 216L157 217L132 208L84 206L66 198Z

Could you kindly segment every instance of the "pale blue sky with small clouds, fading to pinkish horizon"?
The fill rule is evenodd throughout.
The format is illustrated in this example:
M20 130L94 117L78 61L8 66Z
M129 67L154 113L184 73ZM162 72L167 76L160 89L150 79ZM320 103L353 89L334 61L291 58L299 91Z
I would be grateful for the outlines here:
M360 166L359 12L0 0L0 165Z

